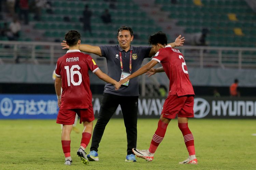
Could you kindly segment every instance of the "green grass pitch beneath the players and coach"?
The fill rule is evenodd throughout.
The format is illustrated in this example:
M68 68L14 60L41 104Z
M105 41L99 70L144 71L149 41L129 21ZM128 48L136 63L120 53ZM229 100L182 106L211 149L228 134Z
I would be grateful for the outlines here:
M138 120L138 149L148 149L158 119ZM94 121L96 124L96 120ZM122 119L111 119L99 147L99 162L83 165L76 151L81 134L71 133L67 167L61 129L55 120L0 120L0 169L255 169L256 120L191 119L198 165L180 165L188 156L177 120L170 122L153 162L125 162L126 132ZM82 132L81 124L77 128ZM90 144L89 144L90 146ZM86 148L89 153L89 147Z

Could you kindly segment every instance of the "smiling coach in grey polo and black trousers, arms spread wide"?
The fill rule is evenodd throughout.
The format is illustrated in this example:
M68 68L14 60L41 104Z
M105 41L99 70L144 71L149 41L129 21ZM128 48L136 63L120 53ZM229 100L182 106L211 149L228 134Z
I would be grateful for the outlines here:
M120 81L121 77L127 77L131 73L137 71L141 67L143 59L150 58L155 52L152 47L131 46L133 31L130 27L121 26L117 31L117 40L119 45L116 46L99 47L81 44L79 50L106 57L109 77L116 81ZM171 45L173 48L182 46L184 40L184 37L181 38L180 35L176 38L174 43L168 45ZM63 49L69 48L66 41L63 41L61 46L63 46ZM115 90L112 84L106 83L98 120L93 131L90 153L87 155L89 160L99 160L97 152L105 126L108 124L110 118L120 104L127 135L127 156L125 161L136 162L132 148L136 148L137 145L138 97L138 77L124 83L119 90Z

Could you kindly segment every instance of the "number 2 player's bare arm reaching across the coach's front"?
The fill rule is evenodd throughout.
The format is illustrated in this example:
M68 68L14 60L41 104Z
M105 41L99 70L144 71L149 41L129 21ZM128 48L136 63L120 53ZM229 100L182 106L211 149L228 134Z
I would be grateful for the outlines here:
M151 60L150 62L148 62L146 65L144 65L143 67L141 67L139 70L135 71L134 73L132 73L131 75L129 75L127 78L122 79L119 81L120 84L123 84L125 82L127 82L128 80L137 77L141 74L144 74L145 72L149 71L151 68L153 68L158 62L155 60Z

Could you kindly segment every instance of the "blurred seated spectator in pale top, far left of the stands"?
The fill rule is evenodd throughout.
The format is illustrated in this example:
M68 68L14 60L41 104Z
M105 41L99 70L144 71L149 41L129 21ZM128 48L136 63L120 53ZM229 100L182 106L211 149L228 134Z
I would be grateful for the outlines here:
M19 23L19 21L16 17L10 23L9 29L10 29L10 31L8 31L6 33L8 39L10 41L17 41L18 38L19 38L19 32L21 30L21 26L20 26L20 23Z

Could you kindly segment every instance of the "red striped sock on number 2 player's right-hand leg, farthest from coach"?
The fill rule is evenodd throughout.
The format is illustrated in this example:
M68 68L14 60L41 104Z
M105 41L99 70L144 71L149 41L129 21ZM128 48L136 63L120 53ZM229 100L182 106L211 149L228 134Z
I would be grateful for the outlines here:
M184 142L186 144L189 155L195 155L195 146L194 146L194 136L188 128L188 123L178 123L178 126L184 137Z

